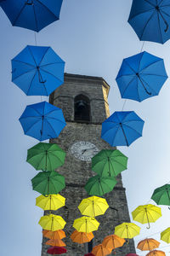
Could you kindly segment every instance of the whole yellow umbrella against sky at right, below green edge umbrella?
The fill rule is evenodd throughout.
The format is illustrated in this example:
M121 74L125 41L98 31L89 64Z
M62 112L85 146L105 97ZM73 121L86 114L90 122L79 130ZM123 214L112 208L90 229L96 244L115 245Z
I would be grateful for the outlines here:
M133 212L133 220L141 224L148 223L150 229L150 222L156 222L161 217L161 208L154 205L144 205L137 207Z

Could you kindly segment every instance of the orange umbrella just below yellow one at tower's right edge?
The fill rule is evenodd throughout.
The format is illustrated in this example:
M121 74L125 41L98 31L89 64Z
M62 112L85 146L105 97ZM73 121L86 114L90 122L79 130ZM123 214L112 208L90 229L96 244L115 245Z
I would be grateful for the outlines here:
M125 239L116 235L106 236L102 241L104 247L115 249L117 247L122 247L125 243Z

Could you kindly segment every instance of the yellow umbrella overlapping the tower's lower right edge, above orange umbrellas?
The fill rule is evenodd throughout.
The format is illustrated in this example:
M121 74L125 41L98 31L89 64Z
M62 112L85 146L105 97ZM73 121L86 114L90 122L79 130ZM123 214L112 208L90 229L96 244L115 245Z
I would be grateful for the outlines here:
M133 238L140 233L140 227L133 223L122 223L115 227L115 235L122 238Z

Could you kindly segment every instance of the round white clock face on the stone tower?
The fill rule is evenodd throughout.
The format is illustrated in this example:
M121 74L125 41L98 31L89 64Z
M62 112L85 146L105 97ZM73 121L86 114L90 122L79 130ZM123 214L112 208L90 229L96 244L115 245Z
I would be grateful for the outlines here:
M89 142L77 142L71 146L71 154L74 155L79 160L82 161L91 161L95 154L99 152L93 143Z

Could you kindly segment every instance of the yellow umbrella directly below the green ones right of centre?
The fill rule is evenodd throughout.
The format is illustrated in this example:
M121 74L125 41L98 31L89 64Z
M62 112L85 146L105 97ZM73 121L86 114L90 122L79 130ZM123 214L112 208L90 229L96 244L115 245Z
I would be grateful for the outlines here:
M105 214L105 211L109 208L109 205L105 198L98 196L90 196L83 199L78 209L82 215L87 215L89 217L95 217Z

